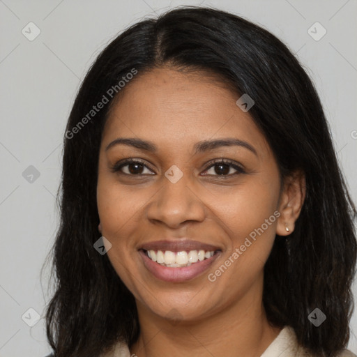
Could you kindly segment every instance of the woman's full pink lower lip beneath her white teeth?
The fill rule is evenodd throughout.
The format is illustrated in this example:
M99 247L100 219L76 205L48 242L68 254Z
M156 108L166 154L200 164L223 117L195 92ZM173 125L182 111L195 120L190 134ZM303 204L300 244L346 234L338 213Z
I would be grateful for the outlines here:
M213 261L220 255L220 251L218 251L215 252L212 257L197 261L197 263L193 263L190 266L169 268L168 266L162 266L151 260L144 250L139 250L139 253L142 256L146 268L155 276L155 278L164 280L165 282L185 282L196 278L198 275L201 275L204 271L208 270L211 264L213 264Z

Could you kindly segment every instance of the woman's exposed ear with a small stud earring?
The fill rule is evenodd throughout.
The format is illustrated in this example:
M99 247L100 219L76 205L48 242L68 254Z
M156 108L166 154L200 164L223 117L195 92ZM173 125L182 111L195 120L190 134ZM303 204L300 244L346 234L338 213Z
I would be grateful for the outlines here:
M295 229L295 222L300 215L306 195L305 174L298 170L284 179L280 195L278 225L276 234L288 236ZM289 231L288 231L289 230Z

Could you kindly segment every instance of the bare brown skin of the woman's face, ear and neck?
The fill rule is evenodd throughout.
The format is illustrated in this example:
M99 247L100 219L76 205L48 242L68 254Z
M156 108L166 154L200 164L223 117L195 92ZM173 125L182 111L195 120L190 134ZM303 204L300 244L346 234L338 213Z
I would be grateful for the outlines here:
M280 333L268 324L262 305L264 264L275 234L294 231L305 197L298 172L281 186L278 165L264 135L239 96L205 73L185 74L158 68L127 84L102 133L98 167L98 213L115 271L135 296L141 333L130 354L153 356L261 356ZM118 144L136 137L158 146L149 153ZM252 147L221 146L197 153L205 139L234 137ZM130 165L111 172L127 158L144 161L141 174ZM226 167L226 179L214 159L229 159L244 169ZM172 183L165 172L179 167ZM135 167L131 166L131 169ZM229 171L228 171L229 170ZM125 174L126 173L126 174ZM224 176L223 175L223 176ZM214 282L214 273L275 211L268 225ZM289 232L285 227L289 227ZM165 237L188 237L217 245L222 252L208 271L187 282L163 282L142 264L138 248Z

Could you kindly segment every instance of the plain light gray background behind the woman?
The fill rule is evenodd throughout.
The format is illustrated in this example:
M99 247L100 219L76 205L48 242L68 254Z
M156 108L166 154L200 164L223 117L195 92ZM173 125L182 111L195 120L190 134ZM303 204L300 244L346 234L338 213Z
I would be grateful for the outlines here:
M40 268L58 225L54 196L61 141L84 74L126 26L146 15L199 3L261 24L297 54L317 86L357 202L356 0L0 0L0 357L50 351L44 319L30 328L22 315L26 312L25 321L33 321L35 313L27 312L31 307L44 317L51 296L48 269L41 284ZM29 22L41 31L33 41L22 34ZM307 33L315 22L327 30L319 41ZM22 176L29 165L40 172L33 183ZM356 286L354 291L356 296ZM356 312L351 330L357 331ZM357 353L354 334L349 349Z

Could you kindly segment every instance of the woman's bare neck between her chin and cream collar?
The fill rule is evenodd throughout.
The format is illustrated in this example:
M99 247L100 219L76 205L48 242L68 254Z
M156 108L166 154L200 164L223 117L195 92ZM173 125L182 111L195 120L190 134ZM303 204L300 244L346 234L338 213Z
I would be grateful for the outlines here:
M199 321L170 322L137 301L140 335L130 349L139 357L259 357L281 329L268 324L262 294L247 294ZM259 298L255 298L259 296Z

